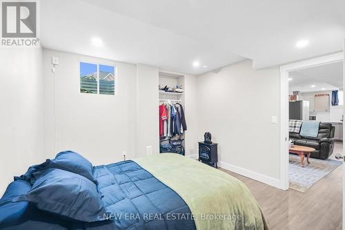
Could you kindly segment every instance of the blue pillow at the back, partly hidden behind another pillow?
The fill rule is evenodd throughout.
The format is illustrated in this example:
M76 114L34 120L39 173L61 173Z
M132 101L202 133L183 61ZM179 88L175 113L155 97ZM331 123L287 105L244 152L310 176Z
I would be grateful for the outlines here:
M83 175L88 178L88 180L94 181L92 177L93 166L91 162L73 151L60 152L55 159L50 160L49 164L39 164L36 166L36 169L62 169Z

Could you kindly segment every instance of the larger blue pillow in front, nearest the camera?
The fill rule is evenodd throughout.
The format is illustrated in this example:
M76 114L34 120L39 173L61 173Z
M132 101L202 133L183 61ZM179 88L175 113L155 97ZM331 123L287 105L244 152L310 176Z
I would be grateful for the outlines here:
M96 184L76 173L61 169L42 171L31 191L12 202L27 201L38 209L72 220L95 222L106 219Z

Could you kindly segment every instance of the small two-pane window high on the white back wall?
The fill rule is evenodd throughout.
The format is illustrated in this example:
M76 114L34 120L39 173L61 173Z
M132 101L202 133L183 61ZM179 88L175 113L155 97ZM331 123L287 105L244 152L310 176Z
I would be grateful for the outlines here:
M80 92L115 95L115 66L80 62Z

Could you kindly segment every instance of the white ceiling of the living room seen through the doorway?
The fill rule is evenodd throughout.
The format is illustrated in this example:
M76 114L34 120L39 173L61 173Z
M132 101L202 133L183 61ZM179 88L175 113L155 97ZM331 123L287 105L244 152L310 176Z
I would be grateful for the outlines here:
M304 68L291 72L289 77L292 79L289 82L290 92L307 93L337 90L343 88L343 63L340 61L333 64Z

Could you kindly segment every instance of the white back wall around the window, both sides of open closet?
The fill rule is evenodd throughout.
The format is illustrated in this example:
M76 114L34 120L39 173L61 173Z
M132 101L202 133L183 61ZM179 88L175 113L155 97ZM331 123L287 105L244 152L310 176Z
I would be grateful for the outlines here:
M51 57L59 58L55 77ZM117 95L79 93L79 61L117 66ZM153 154L159 153L157 67L44 49L43 73L47 157L71 149L93 164L106 164L122 160L123 151L127 159L146 155L148 146ZM196 153L196 81L195 76L189 77L186 138L188 149Z

